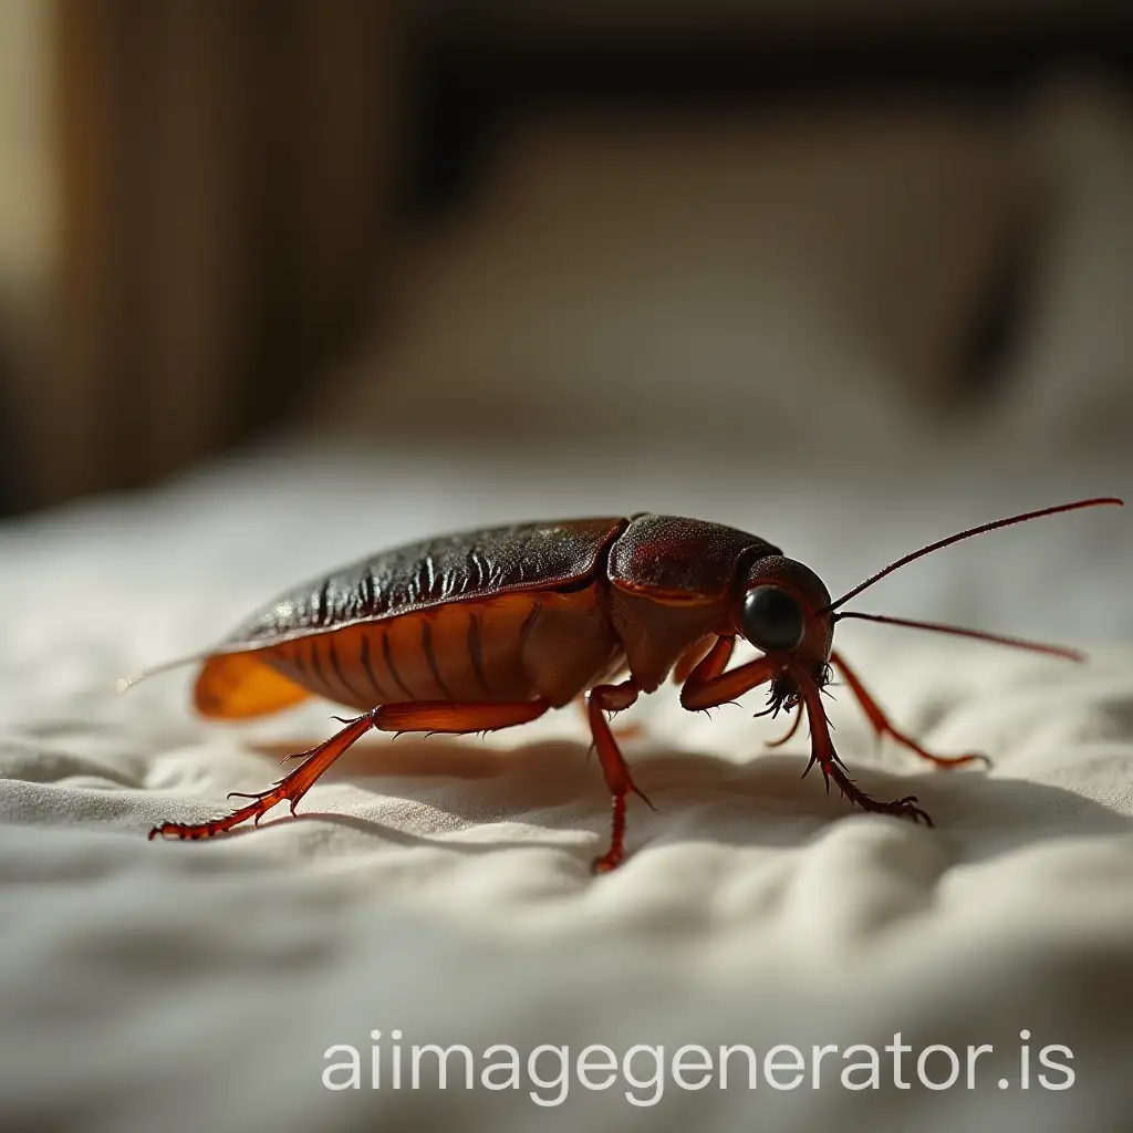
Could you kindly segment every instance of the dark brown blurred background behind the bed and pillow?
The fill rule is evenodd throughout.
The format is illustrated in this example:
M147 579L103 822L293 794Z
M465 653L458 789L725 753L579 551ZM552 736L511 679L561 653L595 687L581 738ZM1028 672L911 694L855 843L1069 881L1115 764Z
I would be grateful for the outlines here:
M1051 75L1133 74L1130 6L1105 2L56 0L3 22L23 133L0 154L24 194L0 194L8 512L301 426L395 323L421 235L548 112L994 116ZM1005 238L953 344L965 411L1004 378L1034 247L1026 224Z

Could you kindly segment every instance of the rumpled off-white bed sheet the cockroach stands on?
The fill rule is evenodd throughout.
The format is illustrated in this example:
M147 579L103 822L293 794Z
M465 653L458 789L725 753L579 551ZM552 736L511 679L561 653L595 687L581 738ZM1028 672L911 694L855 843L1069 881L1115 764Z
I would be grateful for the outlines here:
M157 820L219 813L227 791L266 785L278 756L326 734L333 709L210 725L188 712L185 674L122 698L110 695L114 678L206 645L275 590L355 554L508 517L663 509L766 533L838 590L966 523L1128 482L1124 465L1036 478L959 472L949 458L947 475L922 459L900 483L879 468L874 479L722 492L726 468L673 467L612 457L599 477L552 458L536 477L457 454L280 445L148 495L10 525L0 1125L1127 1127L1125 512L953 548L861 602L1096 645L1089 665L840 628L897 721L937 749L996 760L988 774L926 773L889 747L875 753L845 695L830 706L860 782L885 798L919 794L934 830L853 812L817 775L800 782L803 738L763 753L776 727L750 719L761 697L707 721L663 691L633 709L646 734L625 748L657 811L631 802L632 853L608 877L587 870L608 800L570 712L485 741L375 738L315 786L299 820L273 816L211 843L145 840ZM996 1051L972 1091L857 1093L836 1070L821 1089L787 1092L688 1092L670 1079L654 1107L632 1105L625 1083L595 1092L577 1080L546 1108L526 1081L504 1093L322 1087L327 1047L365 1050L373 1029L389 1041L394 1028L406 1043L474 1051L880 1048L896 1031L914 1049ZM1073 1049L1073 1088L1017 1088L1022 1029L1036 1051Z

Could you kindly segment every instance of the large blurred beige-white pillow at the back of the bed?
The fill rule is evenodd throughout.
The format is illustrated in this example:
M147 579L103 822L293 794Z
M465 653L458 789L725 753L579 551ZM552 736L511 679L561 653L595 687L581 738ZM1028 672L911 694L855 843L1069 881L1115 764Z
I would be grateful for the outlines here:
M315 416L370 436L881 440L954 376L1022 193L1013 138L928 109L537 121L407 257Z

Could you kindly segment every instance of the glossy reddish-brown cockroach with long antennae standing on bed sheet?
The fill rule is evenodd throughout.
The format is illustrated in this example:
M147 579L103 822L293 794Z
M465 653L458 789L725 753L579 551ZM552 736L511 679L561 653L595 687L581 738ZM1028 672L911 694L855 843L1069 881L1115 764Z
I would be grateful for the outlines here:
M364 559L279 596L215 648L119 682L128 688L176 665L202 663L194 704L205 717L242 719L308 696L361 715L223 818L165 821L150 837L204 838L299 800L352 743L380 732L489 732L536 719L581 698L613 817L595 872L624 857L625 803L634 784L608 717L666 678L684 708L729 704L769 682L757 715L806 709L810 760L863 810L923 821L915 795L881 802L858 787L834 750L820 692L841 672L874 731L936 767L986 757L940 756L898 731L833 648L836 622L857 617L952 633L1071 661L1074 649L1013 637L844 611L851 598L923 555L985 531L1042 516L1121 504L1106 496L1024 512L973 527L889 563L840 598L808 566L766 539L721 523L673 516L516 523L449 535ZM760 656L729 668L743 638Z

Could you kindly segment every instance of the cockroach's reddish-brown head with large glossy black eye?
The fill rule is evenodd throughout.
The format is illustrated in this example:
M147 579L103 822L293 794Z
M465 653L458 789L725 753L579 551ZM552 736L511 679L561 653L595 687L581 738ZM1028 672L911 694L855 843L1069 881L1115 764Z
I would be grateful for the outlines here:
M735 630L764 653L787 653L824 683L834 640L830 595L809 568L765 555L740 578L732 617Z

